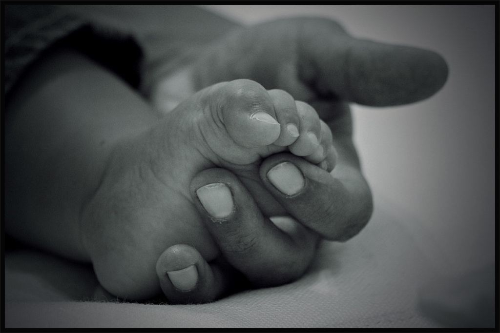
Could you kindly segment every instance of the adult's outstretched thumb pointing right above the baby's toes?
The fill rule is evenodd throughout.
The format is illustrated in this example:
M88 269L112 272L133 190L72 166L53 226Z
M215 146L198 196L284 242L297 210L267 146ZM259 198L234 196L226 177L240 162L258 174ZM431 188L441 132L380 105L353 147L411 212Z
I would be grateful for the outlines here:
M372 106L407 104L433 95L447 79L439 54L353 38L328 19L303 19L299 36L298 75L323 95Z

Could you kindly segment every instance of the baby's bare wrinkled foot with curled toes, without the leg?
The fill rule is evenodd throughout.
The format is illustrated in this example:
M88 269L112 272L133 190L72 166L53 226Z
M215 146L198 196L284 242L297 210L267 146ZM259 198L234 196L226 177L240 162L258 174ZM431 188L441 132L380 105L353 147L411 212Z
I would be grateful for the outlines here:
M121 142L82 210L83 243L100 283L118 297L147 299L161 293L155 265L166 248L188 244L207 261L219 255L189 194L201 170L229 169L264 215L285 214L258 167L287 150L328 170L335 161L331 133L312 107L249 80L205 88Z

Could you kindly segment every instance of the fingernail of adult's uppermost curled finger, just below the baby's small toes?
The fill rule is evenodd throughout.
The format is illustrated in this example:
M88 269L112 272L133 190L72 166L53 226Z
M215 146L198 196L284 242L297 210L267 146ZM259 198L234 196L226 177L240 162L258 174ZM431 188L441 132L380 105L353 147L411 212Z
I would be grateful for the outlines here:
M302 173L291 162L279 163L272 167L267 172L267 179L286 195L297 194L305 184Z

